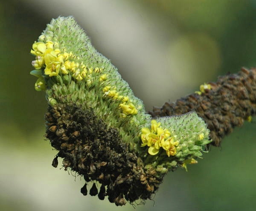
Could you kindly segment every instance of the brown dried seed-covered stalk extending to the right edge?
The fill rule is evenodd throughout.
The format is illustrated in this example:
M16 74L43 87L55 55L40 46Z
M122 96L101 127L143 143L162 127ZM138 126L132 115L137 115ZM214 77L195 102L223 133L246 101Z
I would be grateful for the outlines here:
M220 76L217 82L209 84L211 89L206 89L201 95L192 93L176 102L154 107L149 113L157 117L194 110L211 131L211 145L220 146L225 135L256 113L256 68L242 68L237 74Z

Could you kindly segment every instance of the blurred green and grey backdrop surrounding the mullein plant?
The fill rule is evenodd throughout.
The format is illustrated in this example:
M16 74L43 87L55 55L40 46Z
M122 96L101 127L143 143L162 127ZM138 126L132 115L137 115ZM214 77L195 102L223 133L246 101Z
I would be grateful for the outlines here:
M151 110L255 66L255 14L255 0L0 0L0 210L134 210L84 197L83 179L51 166L29 52L52 18L73 15ZM255 210L255 126L236 128L187 173L168 173L136 210Z

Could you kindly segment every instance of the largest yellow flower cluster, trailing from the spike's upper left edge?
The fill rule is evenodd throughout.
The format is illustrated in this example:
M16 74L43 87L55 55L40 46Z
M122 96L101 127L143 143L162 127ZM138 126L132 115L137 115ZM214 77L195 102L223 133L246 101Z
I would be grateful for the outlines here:
M79 59L78 56L74 55L73 52L66 52L66 49L59 49L59 44L57 42L47 41L35 42L32 45L32 50L30 51L35 55L35 60L32 61L32 65L36 70L32 71L31 74L38 77L35 83L35 90L41 91L45 90L47 85L44 80L44 75L49 77L57 75L67 75L70 74L77 81L86 80L87 85L92 83L92 73L102 72L103 68L88 68L83 64L83 62L75 62L74 59ZM44 73L41 72L44 69ZM43 75L44 74L44 75ZM99 81L105 81L107 74L100 76Z

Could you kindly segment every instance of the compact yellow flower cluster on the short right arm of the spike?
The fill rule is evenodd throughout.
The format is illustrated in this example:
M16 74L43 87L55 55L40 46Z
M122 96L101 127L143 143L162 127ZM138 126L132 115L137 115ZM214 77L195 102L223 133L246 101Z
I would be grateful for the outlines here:
M168 156L174 156L177 153L176 146L179 145L177 136L173 136L169 130L160 127L160 124L160 122L153 119L151 129L148 127L141 129L141 146L145 147L147 145L150 155L156 155L162 147L166 150Z

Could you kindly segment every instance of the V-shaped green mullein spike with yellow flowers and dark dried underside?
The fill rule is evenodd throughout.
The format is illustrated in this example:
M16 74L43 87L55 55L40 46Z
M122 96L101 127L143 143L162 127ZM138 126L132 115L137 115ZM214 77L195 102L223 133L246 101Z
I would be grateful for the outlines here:
M46 137L64 169L84 176L81 193L116 205L150 199L163 176L196 163L210 142L195 112L151 119L117 69L73 17L58 17L32 45L35 90L48 100Z

